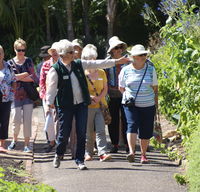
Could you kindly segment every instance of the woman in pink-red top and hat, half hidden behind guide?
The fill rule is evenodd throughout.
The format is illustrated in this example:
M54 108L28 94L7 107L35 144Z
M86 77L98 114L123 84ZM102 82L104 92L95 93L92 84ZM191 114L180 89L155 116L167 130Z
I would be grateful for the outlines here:
M51 56L51 58L47 61L45 61L42 65L41 72L40 72L40 98L42 99L42 104L45 112L45 132L47 134L48 140L49 140L49 146L46 149L46 152L49 153L52 151L53 147L55 146L55 113L56 111L53 109L50 113L47 113L47 105L46 105L46 77L49 69L51 66L58 61L59 55L56 51L58 47L58 42L55 42L52 44L50 49L48 49L48 54Z

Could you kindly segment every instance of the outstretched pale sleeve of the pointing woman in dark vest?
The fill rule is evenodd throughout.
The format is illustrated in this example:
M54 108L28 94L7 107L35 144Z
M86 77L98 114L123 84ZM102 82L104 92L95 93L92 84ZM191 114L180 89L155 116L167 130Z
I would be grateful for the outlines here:
M83 69L107 69L115 66L115 59L81 60Z

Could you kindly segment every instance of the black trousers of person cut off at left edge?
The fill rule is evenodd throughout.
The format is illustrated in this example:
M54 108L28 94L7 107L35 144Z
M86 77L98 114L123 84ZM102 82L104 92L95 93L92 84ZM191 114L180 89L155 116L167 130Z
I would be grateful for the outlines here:
M8 139L11 101L0 102L0 139Z

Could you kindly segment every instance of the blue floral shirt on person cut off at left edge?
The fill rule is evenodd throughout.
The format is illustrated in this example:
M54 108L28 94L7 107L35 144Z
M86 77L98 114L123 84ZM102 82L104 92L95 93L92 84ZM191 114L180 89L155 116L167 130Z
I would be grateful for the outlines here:
M8 102L14 100L14 90L12 88L12 83L16 82L15 74L12 68L6 63L3 62L4 69L0 70L2 75L2 80L0 81L0 91L2 93L2 101Z

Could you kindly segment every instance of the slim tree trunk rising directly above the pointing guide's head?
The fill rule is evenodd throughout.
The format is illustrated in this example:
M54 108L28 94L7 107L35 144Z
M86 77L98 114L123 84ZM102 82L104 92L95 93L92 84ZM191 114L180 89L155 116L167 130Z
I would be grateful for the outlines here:
M68 39L72 41L74 39L74 28L72 19L72 0L66 0L67 10L67 34Z

